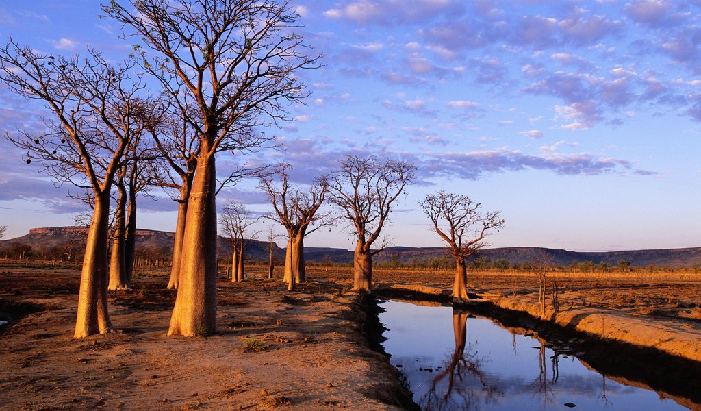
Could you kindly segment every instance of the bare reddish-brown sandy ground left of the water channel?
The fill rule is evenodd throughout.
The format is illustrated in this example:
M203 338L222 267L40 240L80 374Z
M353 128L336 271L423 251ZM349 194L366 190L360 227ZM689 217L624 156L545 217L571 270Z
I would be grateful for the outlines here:
M401 409L358 297L335 284L286 292L255 275L222 279L219 333L174 338L165 332L175 292L163 290L165 276L139 277L111 294L121 331L76 340L78 280L73 270L2 269L0 316L15 317L0 331L5 409ZM244 351L247 339L264 350Z

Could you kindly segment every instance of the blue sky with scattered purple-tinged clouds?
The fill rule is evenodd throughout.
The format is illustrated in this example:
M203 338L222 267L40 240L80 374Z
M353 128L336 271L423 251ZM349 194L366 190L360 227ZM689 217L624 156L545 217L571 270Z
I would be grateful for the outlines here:
M125 3L122 1L122 3ZM0 39L46 53L86 47L114 61L137 39L98 2L0 1ZM416 183L384 232L393 245L440 246L417 202L443 189L500 210L492 247L581 251L701 245L701 1L298 1L312 53L310 97L269 130L300 184L348 154L404 159ZM0 86L0 129L50 113ZM0 225L72 225L83 210L0 139ZM226 161L226 160L225 160ZM139 228L175 230L165 191L139 202ZM255 182L224 189L269 210ZM260 229L266 224L260 223ZM281 229L278 231L282 232ZM278 241L283 245L283 241ZM353 248L340 225L308 246Z

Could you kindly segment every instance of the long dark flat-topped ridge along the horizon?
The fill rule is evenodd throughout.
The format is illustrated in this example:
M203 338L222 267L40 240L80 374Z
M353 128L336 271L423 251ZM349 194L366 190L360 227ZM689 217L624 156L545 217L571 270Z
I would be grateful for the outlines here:
M6 241L0 241L0 252L17 249L20 245L29 245L33 253L44 252L74 252L81 254L85 248L87 229L81 227L46 227L30 229L29 234ZM175 234L168 231L137 230L137 250L140 252L168 256L172 253ZM275 256L283 260L285 249L275 245ZM231 254L231 245L225 238L219 237L219 254ZM247 248L248 258L266 260L268 243L252 241ZM440 247L389 247L376 255L376 262L398 260L402 263L425 261L435 257L447 256L447 250ZM627 260L634 267L647 267L651 264L660 267L691 267L701 265L701 247L673 248L663 250L632 250L611 252L578 252L555 248L538 247L508 247L487 248L475 257L486 257L491 261L505 260L508 264L534 264L548 262L557 266L568 266L573 262L591 261L595 264L607 262L618 264L619 260ZM353 262L353 251L343 248L307 247L306 261L316 262Z

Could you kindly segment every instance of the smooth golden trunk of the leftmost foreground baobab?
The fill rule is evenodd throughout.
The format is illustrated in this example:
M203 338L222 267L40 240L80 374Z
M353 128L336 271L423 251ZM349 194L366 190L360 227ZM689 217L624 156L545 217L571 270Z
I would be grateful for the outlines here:
M113 330L107 311L107 242L109 238L109 187L95 196L86 255L78 293L75 338Z

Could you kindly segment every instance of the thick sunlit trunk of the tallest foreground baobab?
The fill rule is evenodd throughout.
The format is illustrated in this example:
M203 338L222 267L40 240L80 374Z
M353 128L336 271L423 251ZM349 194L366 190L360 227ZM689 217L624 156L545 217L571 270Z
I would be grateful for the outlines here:
M202 147L207 152L207 147ZM182 243L178 292L168 335L217 331L217 204L213 154L197 161Z

